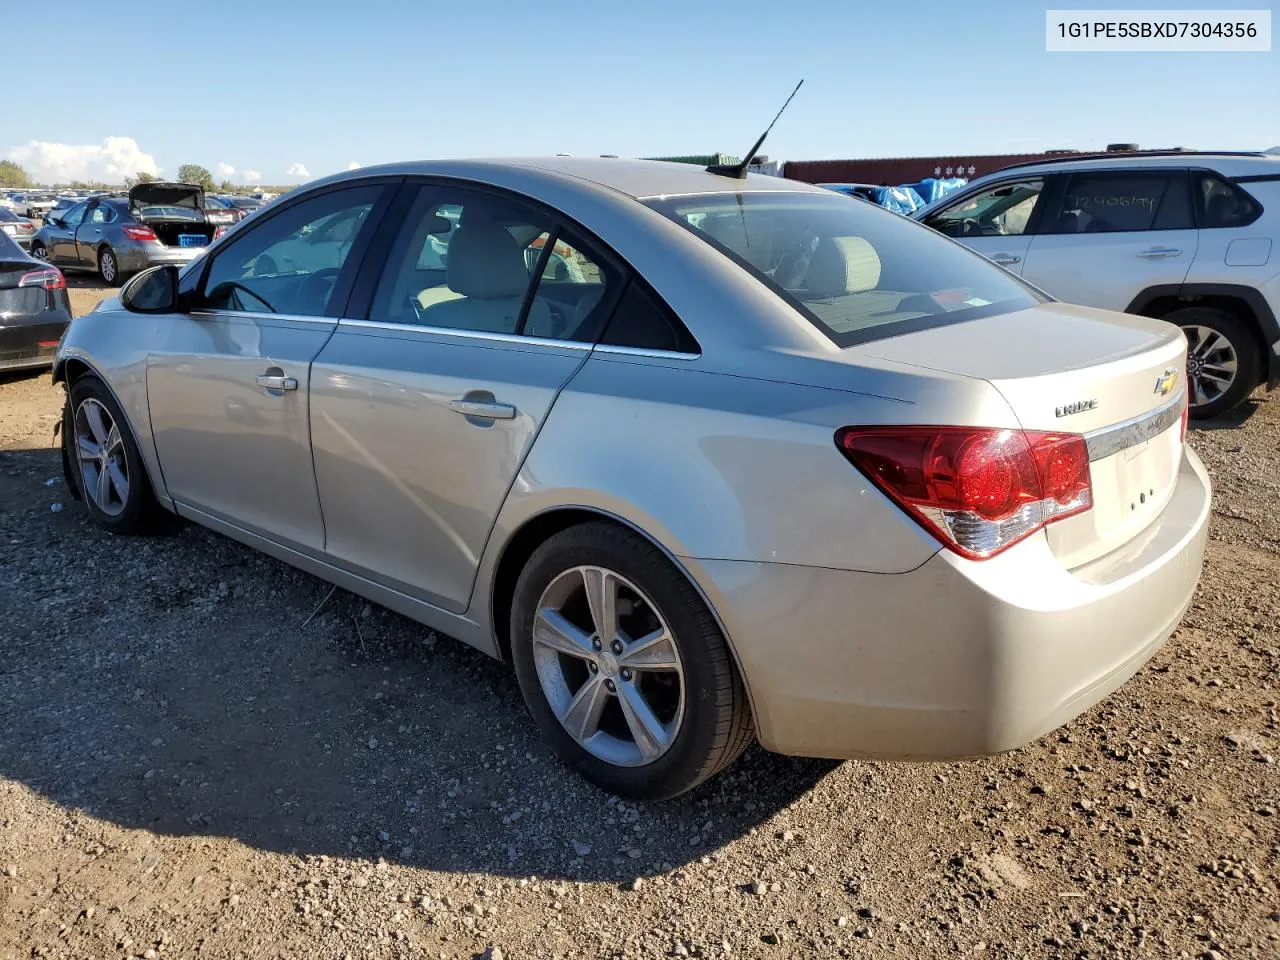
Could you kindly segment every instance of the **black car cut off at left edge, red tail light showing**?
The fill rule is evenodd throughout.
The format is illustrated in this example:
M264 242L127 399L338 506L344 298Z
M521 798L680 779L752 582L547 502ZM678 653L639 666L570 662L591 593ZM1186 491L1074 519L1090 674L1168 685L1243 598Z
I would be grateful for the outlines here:
M70 320L61 271L0 233L0 371L51 366Z

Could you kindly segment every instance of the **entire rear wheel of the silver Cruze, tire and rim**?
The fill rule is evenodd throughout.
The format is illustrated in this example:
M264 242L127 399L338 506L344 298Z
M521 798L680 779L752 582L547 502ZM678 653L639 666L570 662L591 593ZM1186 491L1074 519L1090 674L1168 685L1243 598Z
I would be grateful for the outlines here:
M746 691L714 617L639 534L584 524L550 538L525 564L511 616L535 722L603 790L664 800L751 742Z

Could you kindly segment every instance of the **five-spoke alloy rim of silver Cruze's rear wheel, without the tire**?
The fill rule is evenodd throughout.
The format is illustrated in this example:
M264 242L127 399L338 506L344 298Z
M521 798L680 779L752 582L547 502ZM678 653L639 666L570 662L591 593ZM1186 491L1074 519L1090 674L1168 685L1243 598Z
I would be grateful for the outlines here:
M532 652L552 712L593 756L641 767L676 742L685 713L680 648L631 581L605 567L566 570L538 602Z

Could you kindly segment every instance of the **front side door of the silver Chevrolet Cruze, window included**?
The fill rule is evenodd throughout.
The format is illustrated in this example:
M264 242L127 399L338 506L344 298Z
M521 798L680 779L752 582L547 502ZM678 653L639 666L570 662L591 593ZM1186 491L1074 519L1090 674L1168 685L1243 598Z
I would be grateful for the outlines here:
M275 211L212 253L188 314L165 317L147 364L156 453L179 509L319 553L311 467L311 361L337 325L385 183L342 186ZM357 243L306 269L280 251L335 212ZM355 257L352 253L355 252Z

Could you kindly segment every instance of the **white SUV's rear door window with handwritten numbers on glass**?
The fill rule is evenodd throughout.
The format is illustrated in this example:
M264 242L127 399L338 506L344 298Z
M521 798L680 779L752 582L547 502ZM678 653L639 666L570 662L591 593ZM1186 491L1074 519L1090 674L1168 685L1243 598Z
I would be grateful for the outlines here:
M1184 170L1068 174L1038 233L1194 229Z

